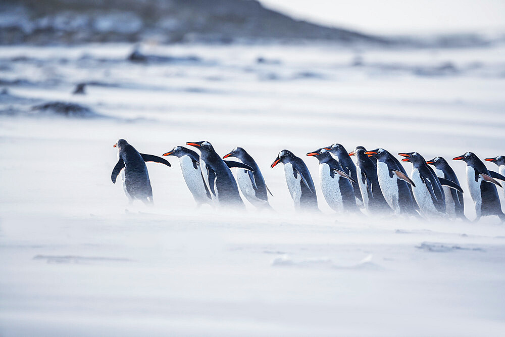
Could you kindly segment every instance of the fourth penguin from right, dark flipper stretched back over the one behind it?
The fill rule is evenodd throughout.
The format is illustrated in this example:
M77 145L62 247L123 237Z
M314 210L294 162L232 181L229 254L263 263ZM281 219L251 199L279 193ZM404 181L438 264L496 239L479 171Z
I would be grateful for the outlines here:
M438 178L426 160L417 152L398 153L405 157L402 162L412 163L411 179L415 183L414 198L419 205L419 211L425 217L446 216L445 194L442 183L450 188L463 192L461 187L450 180Z

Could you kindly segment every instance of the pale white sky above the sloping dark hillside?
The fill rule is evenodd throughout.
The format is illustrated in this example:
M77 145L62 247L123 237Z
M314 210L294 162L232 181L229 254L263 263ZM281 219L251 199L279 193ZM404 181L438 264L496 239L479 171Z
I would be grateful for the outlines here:
M505 0L260 0L296 19L369 33L505 31Z

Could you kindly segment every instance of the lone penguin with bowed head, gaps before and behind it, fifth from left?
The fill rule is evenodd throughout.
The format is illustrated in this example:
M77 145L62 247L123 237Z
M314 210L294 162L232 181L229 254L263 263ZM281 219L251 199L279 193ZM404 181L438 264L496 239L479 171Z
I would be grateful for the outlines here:
M284 164L286 183L289 194L293 198L295 210L318 211L316 188L304 161L296 157L291 151L282 150L270 165L270 168L274 168L279 163Z

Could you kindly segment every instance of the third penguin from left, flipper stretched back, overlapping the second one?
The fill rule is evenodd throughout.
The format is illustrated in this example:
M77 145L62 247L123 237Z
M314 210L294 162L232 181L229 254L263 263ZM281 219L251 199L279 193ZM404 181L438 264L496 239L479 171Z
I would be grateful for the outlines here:
M186 145L200 150L200 168L212 199L220 206L244 208L244 203L238 192L237 182L230 171L230 167L240 167L251 171L254 171L254 169L242 163L222 160L207 140L187 142Z

